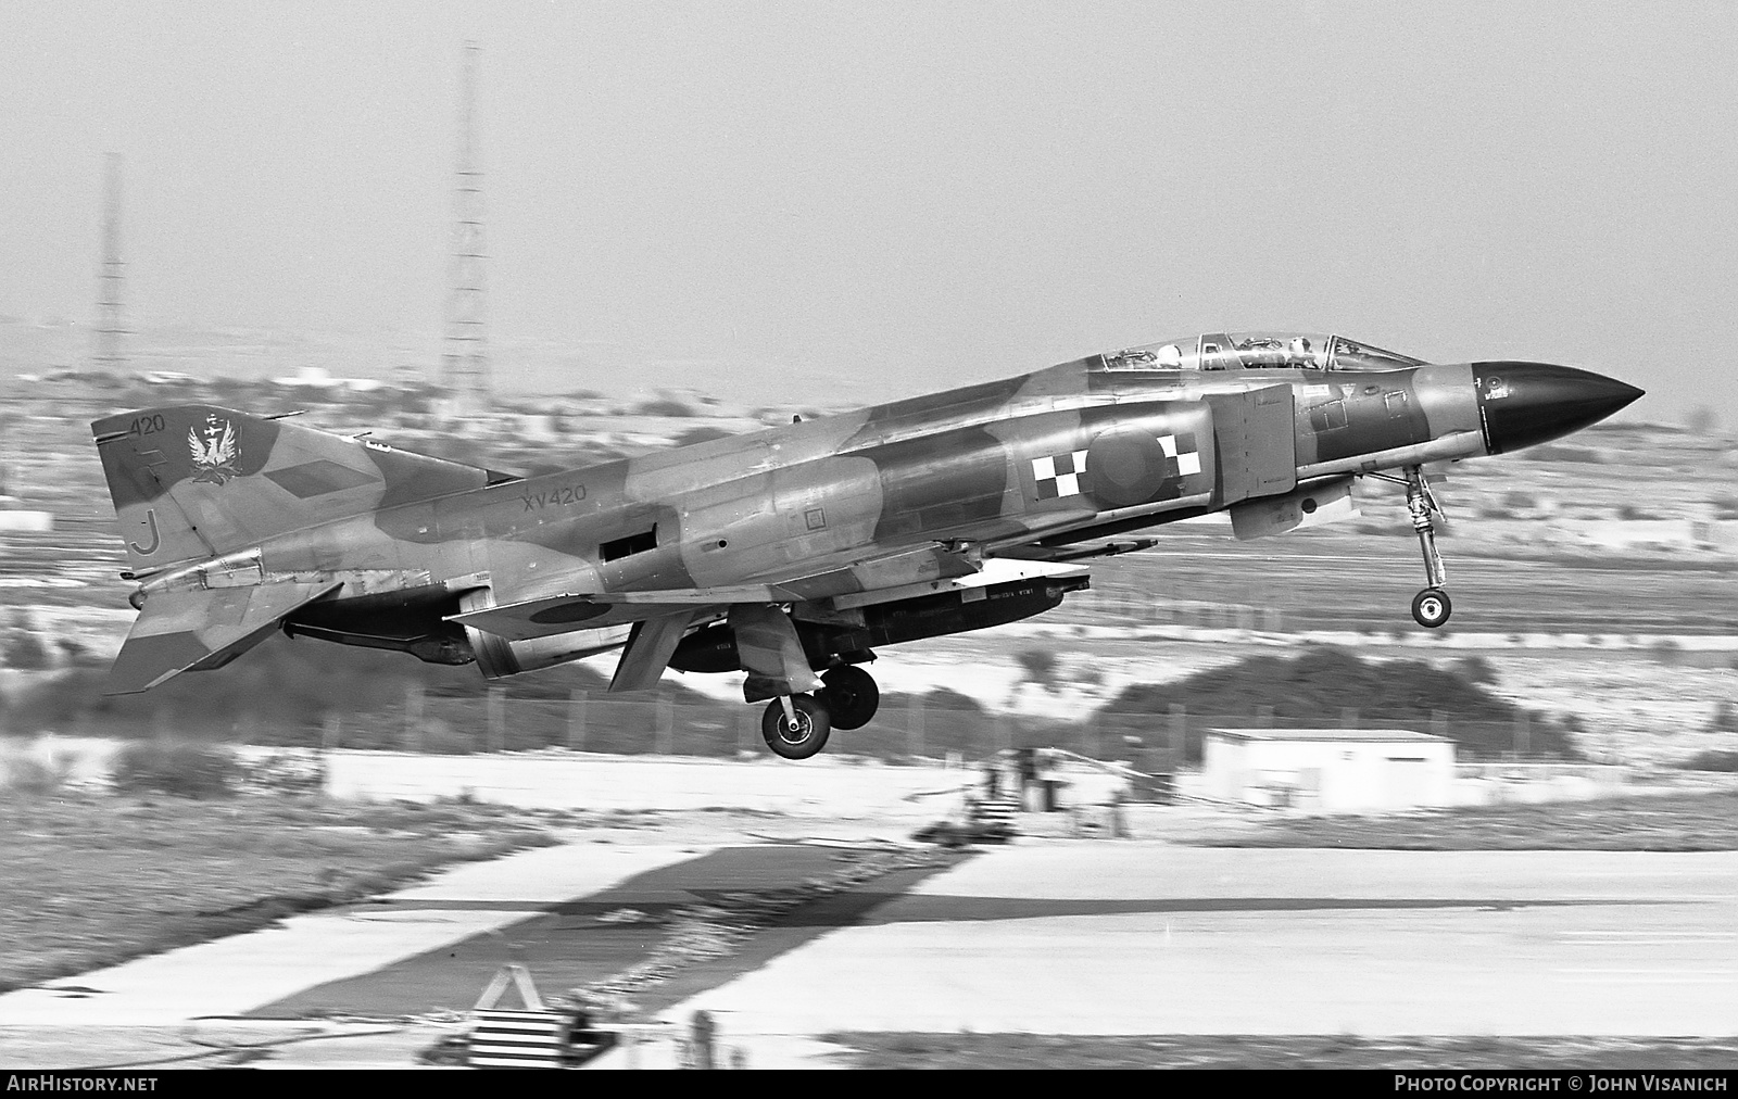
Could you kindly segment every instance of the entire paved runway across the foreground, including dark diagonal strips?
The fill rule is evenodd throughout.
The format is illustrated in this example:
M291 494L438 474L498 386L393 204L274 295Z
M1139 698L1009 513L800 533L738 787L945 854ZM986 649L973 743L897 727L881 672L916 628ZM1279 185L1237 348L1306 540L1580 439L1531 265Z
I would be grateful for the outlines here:
M1738 1033L1738 852L1022 838L815 892L876 852L521 852L0 996L0 1064L408 1068L504 962L561 993L643 965L676 915L768 897L629 991L648 1038L593 1064L673 1066L697 1010L749 1068L843 1064L824 1035L852 1031Z

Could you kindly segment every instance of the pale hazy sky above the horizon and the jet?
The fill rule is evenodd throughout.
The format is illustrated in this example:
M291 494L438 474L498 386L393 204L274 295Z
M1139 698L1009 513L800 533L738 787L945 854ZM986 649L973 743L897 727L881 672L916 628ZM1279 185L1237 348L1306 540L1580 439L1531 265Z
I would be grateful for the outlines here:
M497 372L570 363L521 384L1295 327L1738 424L1733 3L7 0L0 313L92 318L115 150L134 325L438 353L466 40Z

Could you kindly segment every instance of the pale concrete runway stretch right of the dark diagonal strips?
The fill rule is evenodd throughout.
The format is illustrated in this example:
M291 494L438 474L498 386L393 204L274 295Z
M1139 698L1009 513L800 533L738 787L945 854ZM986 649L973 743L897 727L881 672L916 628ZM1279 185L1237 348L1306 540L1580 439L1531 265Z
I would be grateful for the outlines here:
M991 850L681 1003L732 1033L1731 1035L1738 854Z

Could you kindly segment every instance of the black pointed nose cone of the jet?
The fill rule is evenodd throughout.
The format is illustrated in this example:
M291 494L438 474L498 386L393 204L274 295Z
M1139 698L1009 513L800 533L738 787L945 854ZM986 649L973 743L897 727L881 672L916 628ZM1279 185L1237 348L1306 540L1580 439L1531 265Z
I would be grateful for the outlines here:
M1472 376L1491 454L1580 431L1642 395L1604 374L1542 362L1476 362Z

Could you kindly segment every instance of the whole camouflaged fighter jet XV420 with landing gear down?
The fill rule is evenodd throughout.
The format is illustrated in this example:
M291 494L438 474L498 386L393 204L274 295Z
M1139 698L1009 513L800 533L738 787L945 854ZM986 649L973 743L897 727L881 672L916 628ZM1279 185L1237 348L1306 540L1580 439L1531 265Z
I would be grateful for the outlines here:
M886 645L1057 607L1093 556L1213 511L1236 537L1404 485L1448 621L1427 464L1585 428L1642 391L1533 362L1430 365L1340 336L1204 334L641 457L511 476L209 405L92 424L139 617L109 692L282 629L483 676L620 649L610 690L746 671L806 758L879 701Z

